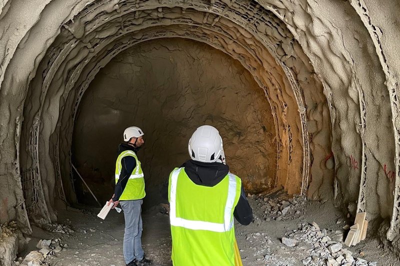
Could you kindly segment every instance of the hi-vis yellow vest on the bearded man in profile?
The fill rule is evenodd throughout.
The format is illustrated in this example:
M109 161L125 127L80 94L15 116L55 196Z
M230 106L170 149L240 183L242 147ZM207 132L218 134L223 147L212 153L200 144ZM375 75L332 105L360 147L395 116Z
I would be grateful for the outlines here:
M137 159L136 154L132 150L122 151L118 155L118 158L115 162L115 183L118 182L122 168L121 161L125 156L132 156L136 160L136 167L130 174L125 189L123 189L119 200L141 199L146 195L146 192L144 192L144 175L143 171L141 170L140 161Z

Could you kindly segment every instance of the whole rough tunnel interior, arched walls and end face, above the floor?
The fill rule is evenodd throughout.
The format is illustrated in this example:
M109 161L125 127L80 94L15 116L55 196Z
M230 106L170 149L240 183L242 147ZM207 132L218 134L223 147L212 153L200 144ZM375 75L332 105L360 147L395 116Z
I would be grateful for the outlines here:
M145 133L143 208L163 201L192 132L209 124L249 197L283 191L347 218L365 212L368 233L398 254L398 1L5 0L0 10L0 223L16 224L0 265L32 226L110 198L131 125Z

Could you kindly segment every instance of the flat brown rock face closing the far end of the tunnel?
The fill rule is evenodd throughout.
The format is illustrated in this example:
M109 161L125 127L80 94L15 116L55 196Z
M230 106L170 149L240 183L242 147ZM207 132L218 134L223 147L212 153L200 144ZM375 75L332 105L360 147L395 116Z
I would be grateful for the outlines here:
M79 105L72 161L96 197L108 200L122 132L140 126L146 142L138 157L154 204L169 172L189 158L188 139L201 124L218 128L227 164L247 191L274 187L275 128L264 91L237 60L182 38L142 43L100 69ZM74 179L78 202L96 204Z

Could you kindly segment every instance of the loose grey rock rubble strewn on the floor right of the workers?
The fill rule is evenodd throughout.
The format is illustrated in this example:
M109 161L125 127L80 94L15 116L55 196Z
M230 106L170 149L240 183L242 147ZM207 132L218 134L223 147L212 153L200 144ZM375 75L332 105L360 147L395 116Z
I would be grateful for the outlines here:
M281 237L275 234L271 238L267 235L267 231L246 234L248 245L243 248L250 252L244 252L249 259L246 261L246 257L243 257L243 264L255 259L256 265L270 266L376 265L376 262L361 258L363 257L362 252L353 254L352 251L345 248L343 241L346 234L344 232L349 226L340 226L343 227L340 230L330 230L322 228L315 221L306 222L303 216L307 207L306 198L301 196L288 198L287 194L279 192L270 197L248 195L248 198L253 207L256 228L264 227L261 224L265 222L279 224L280 227L285 226L284 220L298 219L299 222L297 229L289 230ZM277 221L282 222L276 223ZM345 218L339 218L337 221L337 224L343 224ZM333 220L333 223L336 221ZM251 255L254 257L250 257Z

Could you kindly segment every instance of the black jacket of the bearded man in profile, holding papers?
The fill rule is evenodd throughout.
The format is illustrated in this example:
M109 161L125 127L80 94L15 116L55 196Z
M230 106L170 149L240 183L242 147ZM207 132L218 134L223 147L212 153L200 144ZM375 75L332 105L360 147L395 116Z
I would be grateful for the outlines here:
M125 150L132 150L134 153L137 153L138 148L129 144L121 143L118 146L118 155ZM121 165L121 173L119 174L119 179L115 184L114 197L112 198L112 201L117 201L122 195L123 189L125 189L126 183L129 180L129 176L136 167L136 160L132 156L125 156L121 160Z

